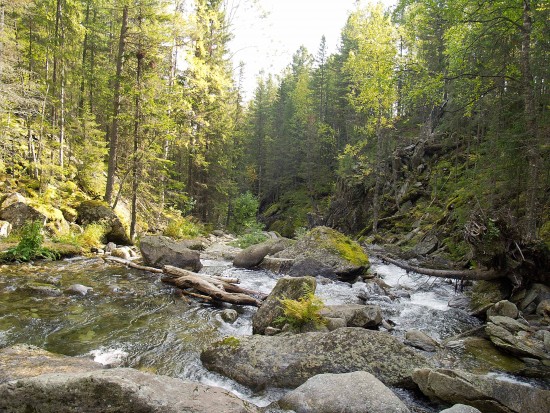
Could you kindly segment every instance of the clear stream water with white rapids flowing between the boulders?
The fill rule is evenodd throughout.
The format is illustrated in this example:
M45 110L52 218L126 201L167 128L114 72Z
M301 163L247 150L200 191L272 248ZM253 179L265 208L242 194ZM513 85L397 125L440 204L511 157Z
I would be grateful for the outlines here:
M280 275L236 269L230 262L203 260L201 272L238 277L241 285L269 293ZM411 328L436 339L460 333L479 322L447 306L455 294L444 280L411 275L393 265L373 262L372 271L402 298L371 295L385 319L402 336ZM64 292L72 284L92 287L87 295ZM53 288L53 290L52 290ZM44 289L46 291L44 291ZM319 282L325 304L360 303L365 283ZM56 295L59 294L59 295ZM410 298L409 298L410 297ZM238 320L221 319L234 308ZM88 356L103 364L125 365L157 374L189 378L226 387L259 405L277 399L277 391L254 395L229 379L206 371L201 350L225 336L252 333L255 309L211 305L174 294L158 275L127 269L100 258L77 258L0 268L0 347L33 344L70 356Z

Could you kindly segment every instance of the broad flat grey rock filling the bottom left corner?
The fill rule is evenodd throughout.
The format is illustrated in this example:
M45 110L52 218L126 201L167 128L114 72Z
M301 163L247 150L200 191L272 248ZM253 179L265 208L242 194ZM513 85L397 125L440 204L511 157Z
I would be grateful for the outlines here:
M229 391L133 369L47 374L0 386L0 411L253 413Z

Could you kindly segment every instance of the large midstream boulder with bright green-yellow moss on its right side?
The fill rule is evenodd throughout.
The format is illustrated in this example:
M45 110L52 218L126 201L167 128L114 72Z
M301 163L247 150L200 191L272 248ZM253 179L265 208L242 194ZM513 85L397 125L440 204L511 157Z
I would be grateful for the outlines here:
M362 274L369 267L369 259L358 243L327 227L313 228L277 256L296 261L310 258L340 278Z

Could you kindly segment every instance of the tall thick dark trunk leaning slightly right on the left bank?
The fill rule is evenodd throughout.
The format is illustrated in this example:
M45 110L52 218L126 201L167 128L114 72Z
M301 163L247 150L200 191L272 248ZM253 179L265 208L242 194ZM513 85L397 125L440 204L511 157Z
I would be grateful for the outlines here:
M128 6L122 9L122 21L120 24L120 37L118 40L118 54L116 59L116 77L114 83L113 123L109 137L109 163L107 167L107 186L105 188L105 202L111 203L115 184L117 149L118 149L118 121L121 105L122 69L124 66L124 52L126 50L126 35L128 32Z

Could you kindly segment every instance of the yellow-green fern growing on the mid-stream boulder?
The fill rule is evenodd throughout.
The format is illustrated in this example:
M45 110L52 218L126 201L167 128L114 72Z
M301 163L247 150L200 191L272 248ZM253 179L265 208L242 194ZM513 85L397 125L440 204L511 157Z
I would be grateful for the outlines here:
M310 288L298 300L283 298L279 301L283 315L275 320L278 325L288 324L293 330L299 331L306 325L318 328L326 324L326 319L320 314L325 304Z

